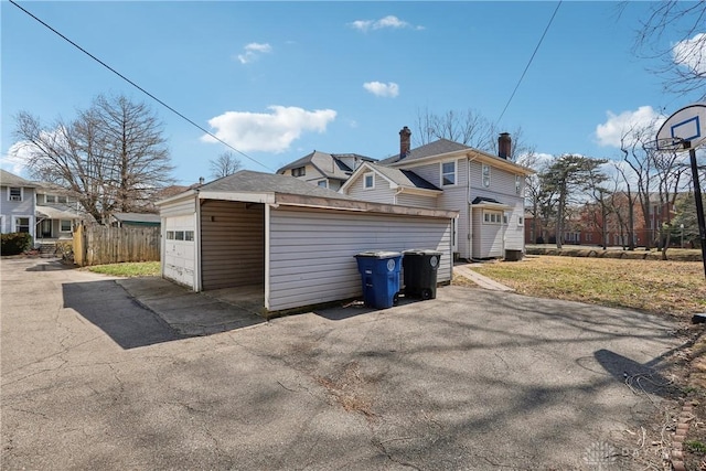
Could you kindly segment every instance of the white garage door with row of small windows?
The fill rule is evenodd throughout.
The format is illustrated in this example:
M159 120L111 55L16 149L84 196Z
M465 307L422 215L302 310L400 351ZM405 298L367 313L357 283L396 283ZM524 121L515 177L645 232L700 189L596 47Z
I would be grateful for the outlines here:
M193 289L196 258L194 215L167 217L164 226L164 278Z

